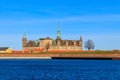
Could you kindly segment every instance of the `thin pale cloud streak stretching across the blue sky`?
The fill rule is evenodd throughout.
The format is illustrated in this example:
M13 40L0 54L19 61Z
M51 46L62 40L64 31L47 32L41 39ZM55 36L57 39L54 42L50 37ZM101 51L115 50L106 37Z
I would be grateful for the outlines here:
M0 25L25 25L25 24L39 24L48 22L120 22L119 15L92 15L92 16L75 16L75 17L64 17L64 18L24 18L24 19L0 19Z

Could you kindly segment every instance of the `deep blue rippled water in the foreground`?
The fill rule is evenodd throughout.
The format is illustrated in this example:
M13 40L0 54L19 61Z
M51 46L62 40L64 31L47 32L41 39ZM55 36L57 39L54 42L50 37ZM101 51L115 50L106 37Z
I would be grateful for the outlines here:
M120 61L0 60L0 80L120 80Z

